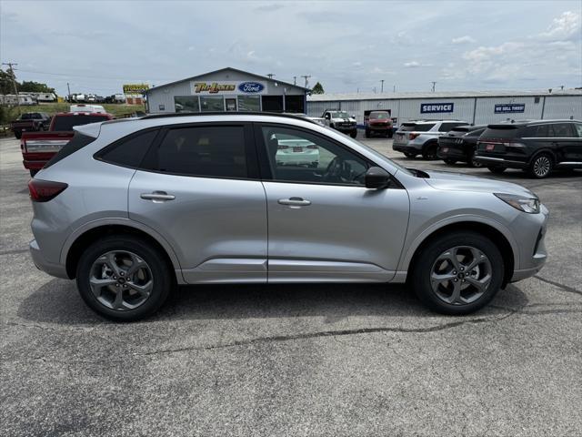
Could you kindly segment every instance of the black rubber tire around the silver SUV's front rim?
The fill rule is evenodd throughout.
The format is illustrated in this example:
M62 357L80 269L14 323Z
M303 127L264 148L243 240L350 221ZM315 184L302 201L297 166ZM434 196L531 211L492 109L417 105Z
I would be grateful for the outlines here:
M439 257L448 250L459 247L475 248L484 254L489 262L490 271L488 274L491 275L491 279L488 282L485 290L480 295L479 293L476 293L477 288L470 285L468 280L465 284L461 284L461 280L463 279L457 278L455 283L450 280L448 282L440 282L437 285L437 288L442 286L443 289L441 290L447 290L447 287L452 288L456 285L467 287L466 290L460 291L461 296L463 296L463 293L467 293L465 296L467 298L473 294L474 298L476 299L470 303L460 302L459 304L452 304L447 303L442 297L439 297L439 294L437 294L437 292L433 289L431 275L433 273L433 269L437 268L439 265L437 263L437 259L439 259ZM470 254L468 249L458 250L459 254L463 253L463 251L466 254ZM460 256L462 255L459 255L459 258ZM477 275L483 275L485 277L487 276L485 269L486 268L483 267L483 271L479 271L478 273L477 269L474 269L473 272L469 273L469 275L472 276L474 273L477 273ZM501 252L499 249L497 249L497 246L491 242L490 239L473 231L454 231L431 240L418 253L416 256L415 265L412 266L411 270L412 275L410 276L410 284L412 285L413 290L415 290L418 298L431 310L449 315L469 314L483 308L495 297L497 291L501 288L505 274L503 258L501 256ZM477 275L475 278L477 278ZM447 287L443 286L443 283L446 283Z

